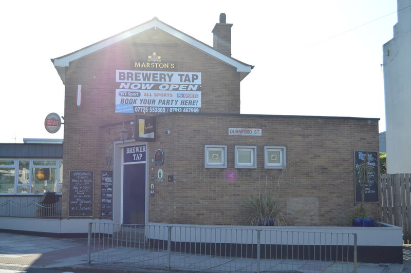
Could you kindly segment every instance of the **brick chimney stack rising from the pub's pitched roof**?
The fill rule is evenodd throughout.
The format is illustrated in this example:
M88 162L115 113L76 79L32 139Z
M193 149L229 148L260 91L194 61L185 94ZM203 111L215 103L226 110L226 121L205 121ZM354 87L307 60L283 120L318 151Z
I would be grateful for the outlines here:
M220 14L220 23L215 24L213 31L213 47L224 55L231 57L231 27L226 24L226 13Z

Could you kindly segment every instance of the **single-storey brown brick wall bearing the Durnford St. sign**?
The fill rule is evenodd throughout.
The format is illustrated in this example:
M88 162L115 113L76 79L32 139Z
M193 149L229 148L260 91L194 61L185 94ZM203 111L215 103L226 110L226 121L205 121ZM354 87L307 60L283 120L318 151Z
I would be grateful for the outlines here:
M379 148L377 120L175 114L157 125L171 134L160 131L149 147L164 150L161 168L174 182L155 183L153 222L249 224L244 200L267 185L288 224L346 225L354 208L353 152ZM228 135L229 127L261 128L263 136ZM204 168L204 145L227 145L228 168ZM257 146L256 169L234 168L235 145ZM265 169L264 146L286 146L287 168ZM367 206L378 219L379 206Z

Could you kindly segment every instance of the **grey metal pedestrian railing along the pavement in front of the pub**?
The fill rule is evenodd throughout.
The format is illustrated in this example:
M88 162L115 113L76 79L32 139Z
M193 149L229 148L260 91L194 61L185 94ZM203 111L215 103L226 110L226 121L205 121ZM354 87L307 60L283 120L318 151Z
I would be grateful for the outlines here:
M357 234L90 223L88 263L180 270L356 272Z

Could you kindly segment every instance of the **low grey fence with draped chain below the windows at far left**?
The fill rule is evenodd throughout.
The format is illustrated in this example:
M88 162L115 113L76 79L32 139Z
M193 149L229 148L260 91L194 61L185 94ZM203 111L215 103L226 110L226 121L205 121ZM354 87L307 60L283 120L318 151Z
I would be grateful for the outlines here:
M0 203L0 216L61 218L61 202L51 204L35 201L17 203L12 200L6 200Z

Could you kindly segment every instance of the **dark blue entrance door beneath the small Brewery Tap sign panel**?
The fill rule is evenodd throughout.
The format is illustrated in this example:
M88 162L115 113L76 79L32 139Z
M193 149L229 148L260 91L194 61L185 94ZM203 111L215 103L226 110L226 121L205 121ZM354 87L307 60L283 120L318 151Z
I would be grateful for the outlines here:
M123 224L144 224L145 164L123 165Z

